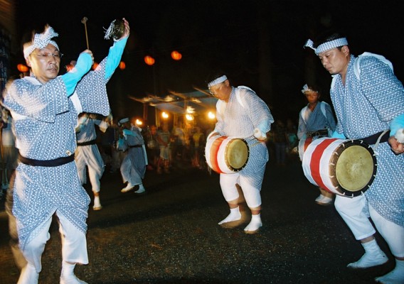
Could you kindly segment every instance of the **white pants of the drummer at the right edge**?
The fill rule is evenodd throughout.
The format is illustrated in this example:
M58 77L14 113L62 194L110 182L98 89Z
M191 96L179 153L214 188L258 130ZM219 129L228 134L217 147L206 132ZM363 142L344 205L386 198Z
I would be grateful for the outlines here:
M376 233L363 210L368 207L371 219L388 244L391 253L396 257L404 257L404 228L378 214L371 205L368 205L365 195L353 198L336 195L334 204L336 211L339 212L357 240L365 239Z

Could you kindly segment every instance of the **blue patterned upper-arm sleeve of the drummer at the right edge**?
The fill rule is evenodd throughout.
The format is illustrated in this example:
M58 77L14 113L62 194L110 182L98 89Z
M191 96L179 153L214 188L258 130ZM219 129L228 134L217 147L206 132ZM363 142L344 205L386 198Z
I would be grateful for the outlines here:
M382 121L390 121L404 113L403 84L388 65L372 56L364 57L361 59L360 81L363 94Z

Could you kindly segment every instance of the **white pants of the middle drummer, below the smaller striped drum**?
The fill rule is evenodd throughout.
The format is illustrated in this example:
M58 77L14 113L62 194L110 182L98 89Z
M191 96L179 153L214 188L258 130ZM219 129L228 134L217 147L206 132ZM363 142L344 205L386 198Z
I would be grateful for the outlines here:
M220 174L220 187L225 200L229 202L238 199L238 190L237 187L235 187L237 183L240 185L241 190L243 190L245 202L247 202L248 207L259 207L261 205L260 189L250 185L248 178L239 173Z

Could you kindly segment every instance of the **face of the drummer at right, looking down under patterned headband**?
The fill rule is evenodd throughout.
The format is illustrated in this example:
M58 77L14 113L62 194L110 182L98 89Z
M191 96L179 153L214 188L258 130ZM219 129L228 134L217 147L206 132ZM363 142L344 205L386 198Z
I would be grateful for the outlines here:
M319 53L319 59L331 75L345 74L350 59L349 49L347 46L343 46L341 50L339 48L326 50L323 53Z

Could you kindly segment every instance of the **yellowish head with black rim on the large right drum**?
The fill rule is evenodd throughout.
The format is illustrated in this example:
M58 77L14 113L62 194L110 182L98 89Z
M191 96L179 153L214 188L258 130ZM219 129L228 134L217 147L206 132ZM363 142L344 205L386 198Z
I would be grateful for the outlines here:
M336 149L335 177L339 190L356 196L365 192L376 176L373 149L361 141L349 141Z

